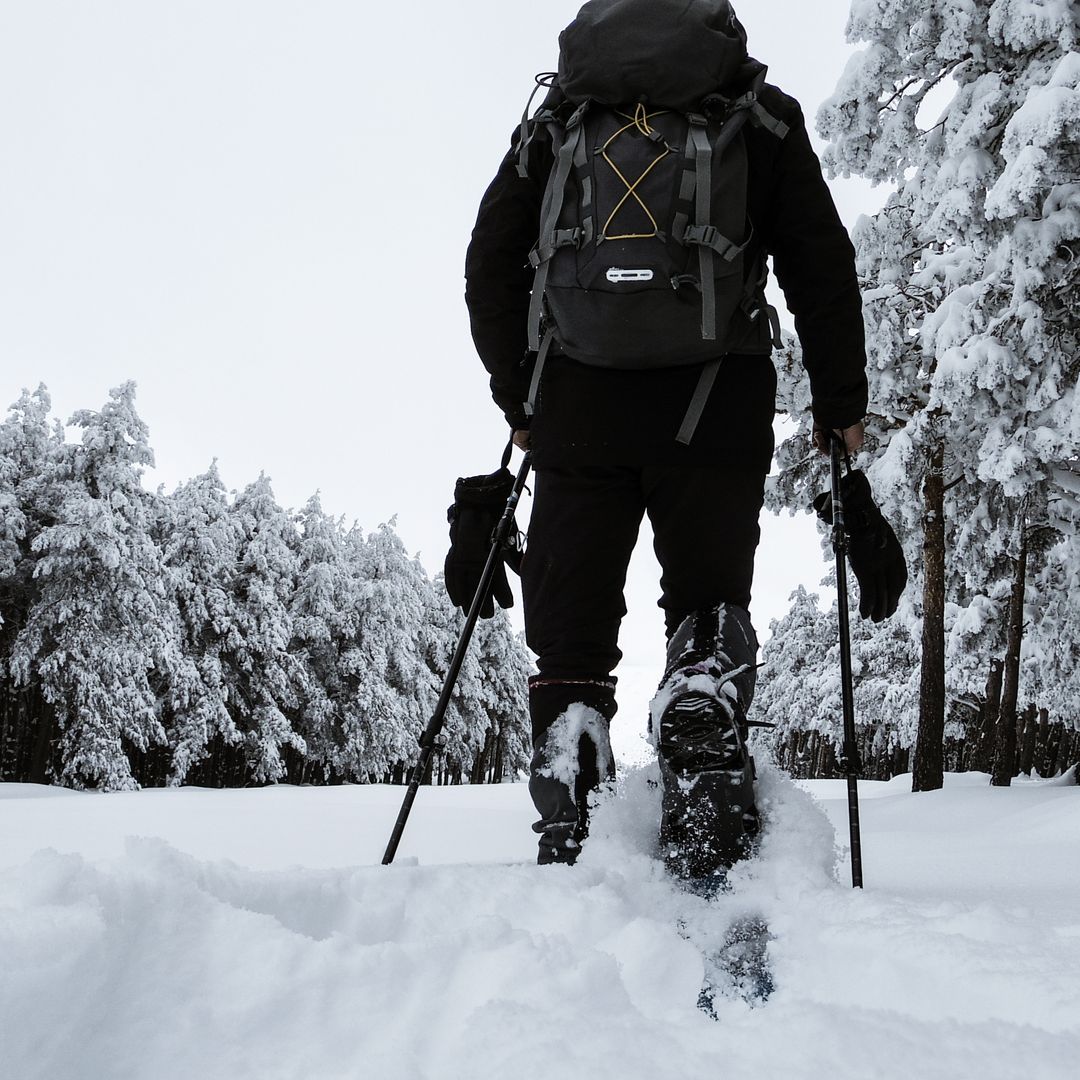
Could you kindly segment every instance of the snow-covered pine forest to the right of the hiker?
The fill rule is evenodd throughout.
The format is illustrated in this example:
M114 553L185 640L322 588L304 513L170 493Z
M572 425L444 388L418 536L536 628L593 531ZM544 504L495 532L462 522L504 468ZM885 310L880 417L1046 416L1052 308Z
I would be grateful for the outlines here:
M866 775L1008 784L1080 758L1080 8L854 0L853 55L818 126L834 174L890 185L853 242L866 470L906 551L899 615L853 622ZM794 345L774 509L823 486ZM805 590L756 707L777 759L836 774L835 613Z

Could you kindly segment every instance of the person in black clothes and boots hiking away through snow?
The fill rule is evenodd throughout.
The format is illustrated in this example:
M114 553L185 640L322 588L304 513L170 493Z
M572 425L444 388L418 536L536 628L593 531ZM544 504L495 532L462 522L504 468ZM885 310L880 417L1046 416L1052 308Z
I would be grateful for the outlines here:
M648 0L648 11L640 0L593 0L565 31L564 51L576 27L635 2L644 13L635 17L670 16L672 26L677 12L706 4L711 32L727 50L726 81L717 86L727 99L764 72L726 0ZM561 95L556 81L544 106L565 117L569 106ZM769 319L755 318L767 257L801 342L816 448L825 450L835 431L849 451L858 449L867 407L853 247L798 103L770 84L758 102L786 127L778 137L777 125L743 126L752 227L743 267L760 305L735 311L689 441L676 441L676 433L703 362L602 366L556 339L529 415L537 364L528 349L529 253L554 160L542 125L531 125L521 170L515 134L480 205L465 260L472 336L513 442L530 453L535 468L522 590L538 672L529 681L529 787L540 814L541 864L575 862L588 836L590 793L613 775L612 673L621 657L626 568L645 515L662 571L667 636L664 677L650 708L664 788L662 853L683 877L723 873L751 851L758 828L745 743L758 647L751 586L777 391L774 334Z

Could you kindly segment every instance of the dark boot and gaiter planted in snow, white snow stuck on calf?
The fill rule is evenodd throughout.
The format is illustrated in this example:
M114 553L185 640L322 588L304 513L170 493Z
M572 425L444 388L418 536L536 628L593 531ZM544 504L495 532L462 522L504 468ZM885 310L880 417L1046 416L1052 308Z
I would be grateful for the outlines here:
M615 716L609 678L529 679L532 766L529 794L540 813L537 862L572 864L589 835L589 796L615 779L608 726Z

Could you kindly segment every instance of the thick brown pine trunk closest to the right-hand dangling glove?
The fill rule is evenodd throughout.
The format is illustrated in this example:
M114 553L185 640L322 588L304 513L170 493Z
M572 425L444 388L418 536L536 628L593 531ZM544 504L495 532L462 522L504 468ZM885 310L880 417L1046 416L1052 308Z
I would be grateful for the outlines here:
M922 484L922 664L919 671L919 733L913 792L933 792L944 782L945 735L945 444L930 451Z

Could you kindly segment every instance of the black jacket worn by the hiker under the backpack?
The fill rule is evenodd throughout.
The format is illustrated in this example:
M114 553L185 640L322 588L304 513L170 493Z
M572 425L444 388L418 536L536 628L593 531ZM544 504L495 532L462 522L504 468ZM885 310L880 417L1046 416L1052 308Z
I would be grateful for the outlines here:
M798 103L767 85L761 104L791 131L781 140L764 129L744 129L750 217L795 316L814 418L824 427L846 428L866 411L854 251ZM511 149L481 203L465 260L465 301L491 394L512 428L531 428L536 464L694 463L737 451L767 459L775 396L768 335L740 336L739 352L726 357L688 447L675 442L675 433L697 384L697 366L627 372L554 356L530 423L523 407L532 363L527 353L528 253L539 232L551 162L550 145L534 139L529 175L523 178ZM753 266L753 253L747 254ZM764 328L765 320L759 322Z

